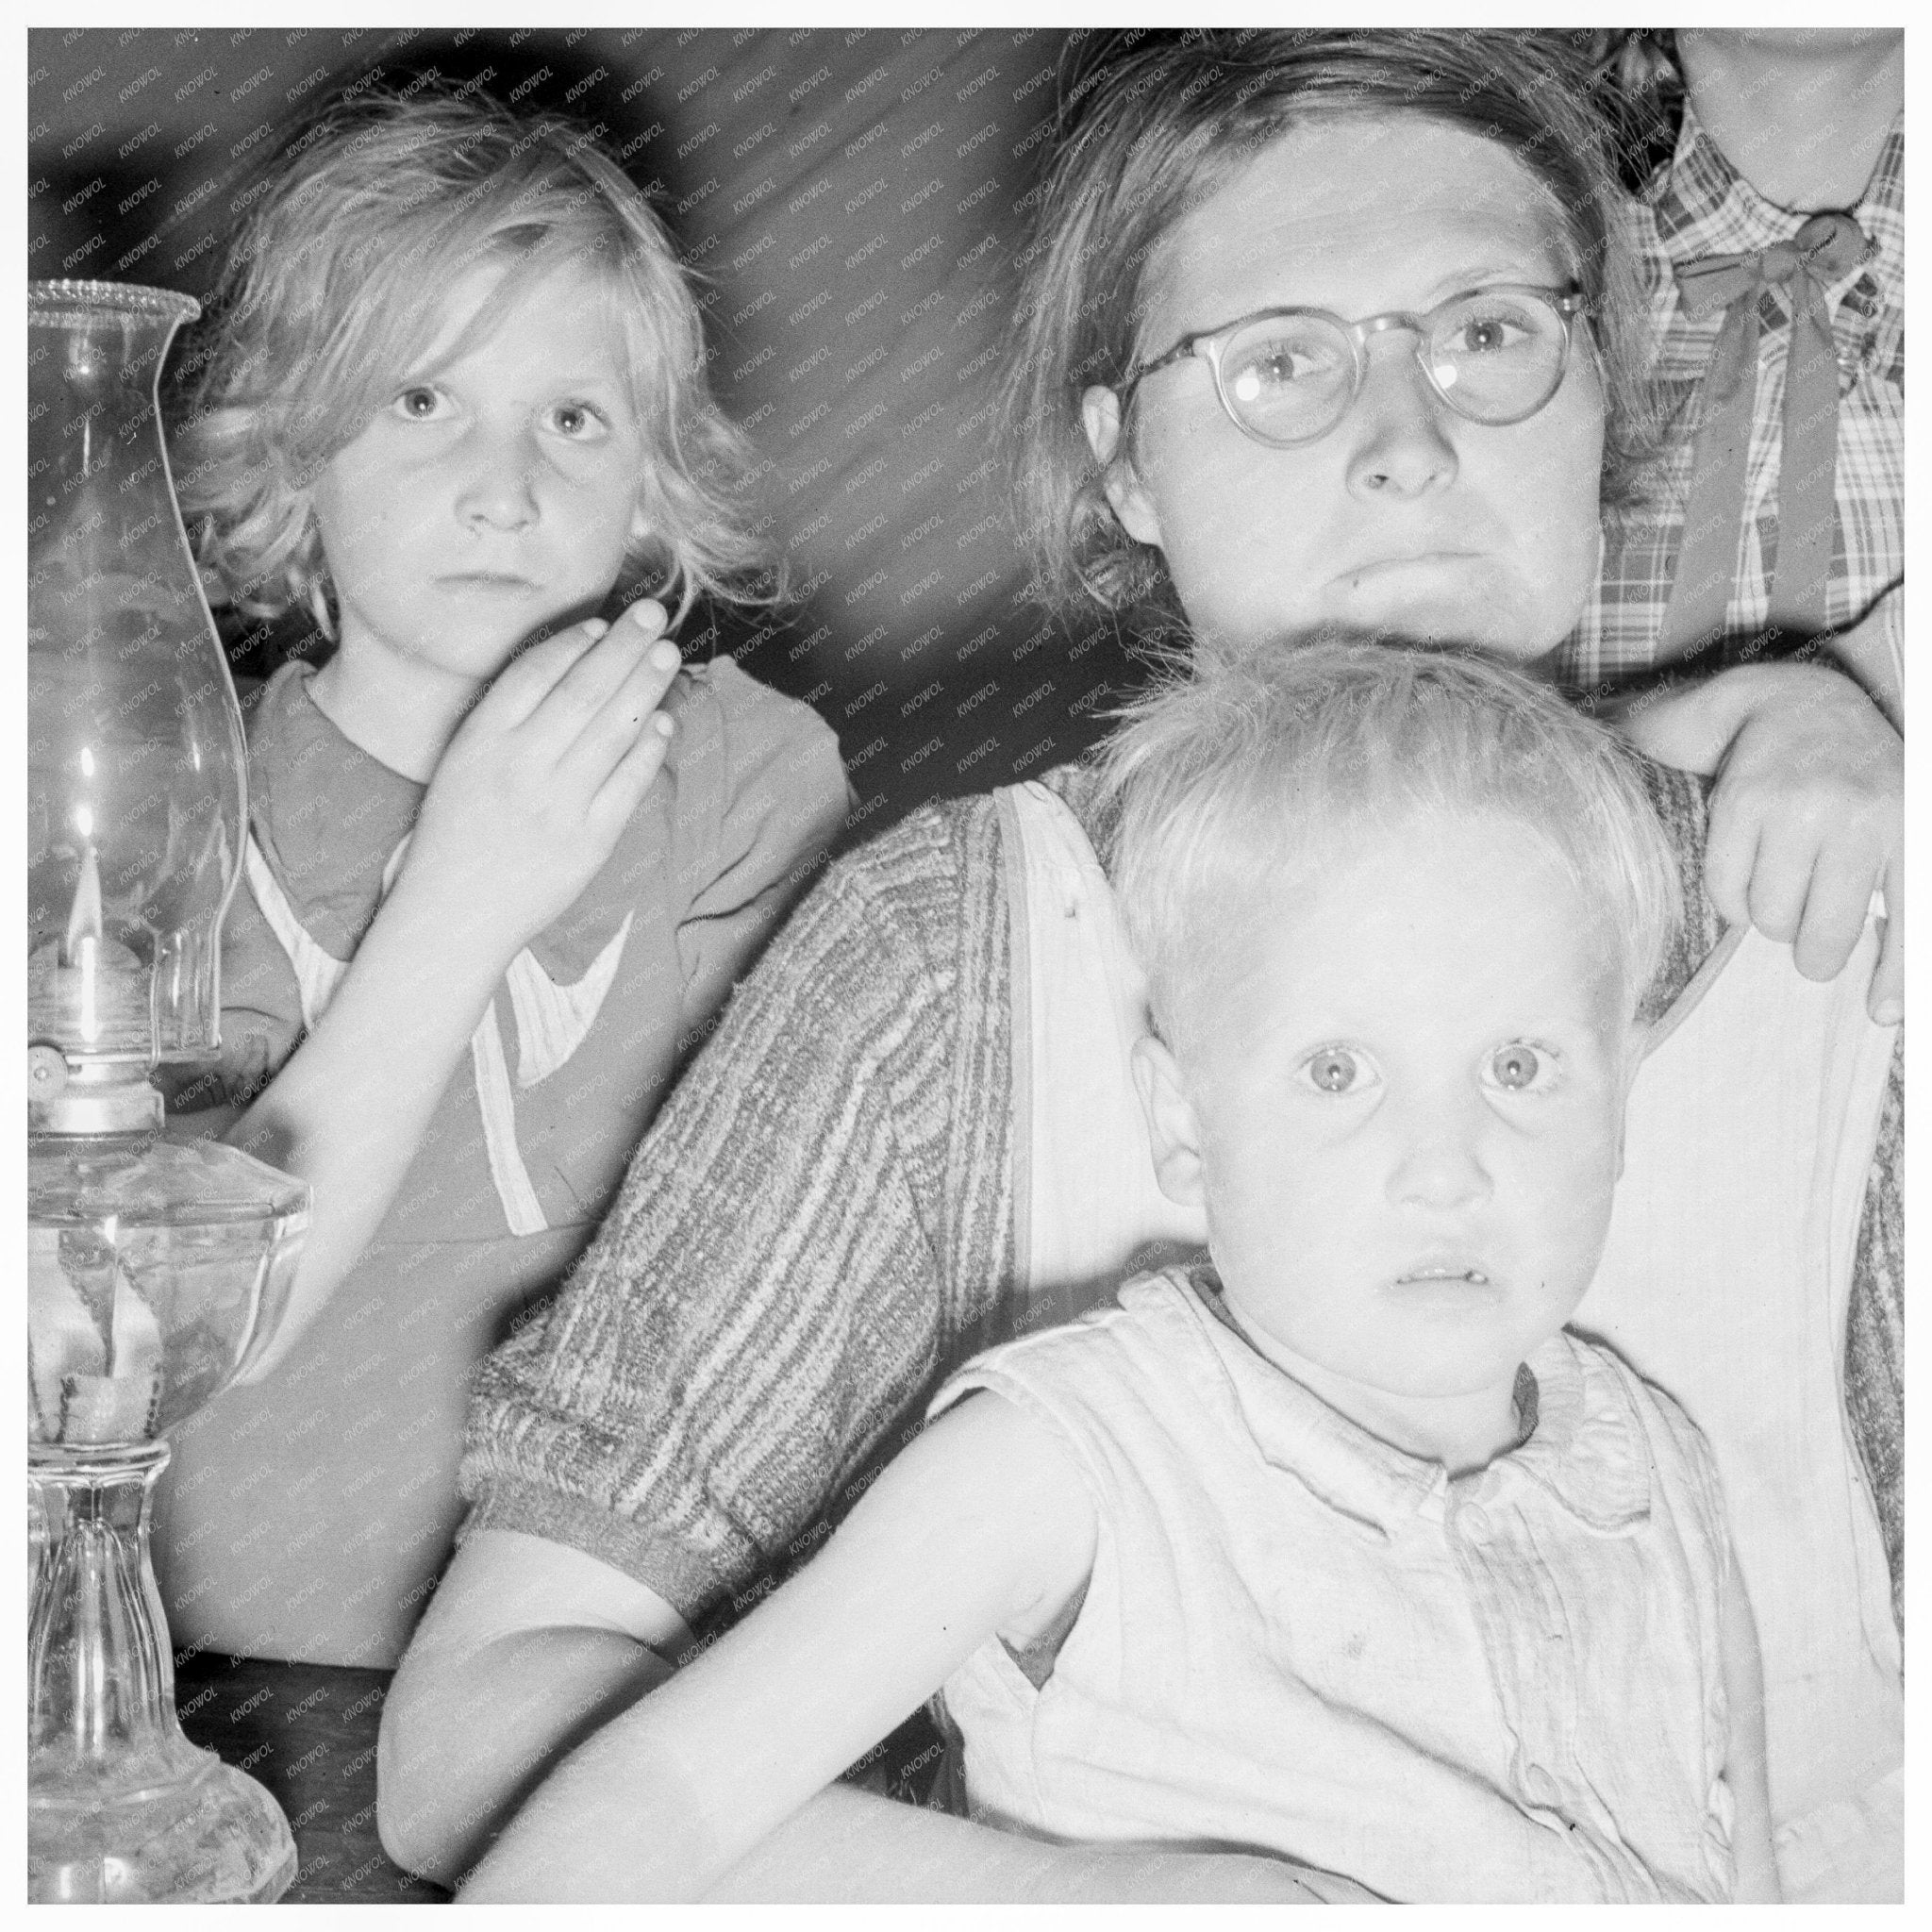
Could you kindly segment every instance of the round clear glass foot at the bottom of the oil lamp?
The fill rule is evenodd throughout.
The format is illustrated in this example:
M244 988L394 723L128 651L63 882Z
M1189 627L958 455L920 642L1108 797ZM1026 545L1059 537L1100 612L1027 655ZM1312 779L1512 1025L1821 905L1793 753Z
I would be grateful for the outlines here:
M27 1897L37 1905L270 1905L296 1876L280 1804L211 1750L164 1785L62 1787L35 1766ZM52 1789L48 1789L52 1785Z

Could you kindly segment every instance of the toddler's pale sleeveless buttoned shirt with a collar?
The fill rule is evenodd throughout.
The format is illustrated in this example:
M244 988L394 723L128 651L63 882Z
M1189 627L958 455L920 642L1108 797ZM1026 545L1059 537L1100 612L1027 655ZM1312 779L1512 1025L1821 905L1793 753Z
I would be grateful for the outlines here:
M1731 1891L1710 1451L1555 1335L1528 1441L1451 1480L1219 1321L1182 1269L991 1350L1097 1546L1041 1689L997 1638L947 1681L976 1816L1244 1845L1397 1901ZM1735 1588L1735 1584L1733 1584Z

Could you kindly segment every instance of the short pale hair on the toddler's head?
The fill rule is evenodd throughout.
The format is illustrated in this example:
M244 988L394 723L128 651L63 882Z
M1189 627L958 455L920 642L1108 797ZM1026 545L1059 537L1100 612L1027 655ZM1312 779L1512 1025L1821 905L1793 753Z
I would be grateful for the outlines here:
M1495 659L1323 634L1194 643L1103 748L1111 873L1173 1037L1229 908L1362 823L1499 813L1604 918L1634 1016L1683 920L1677 860L1633 753Z

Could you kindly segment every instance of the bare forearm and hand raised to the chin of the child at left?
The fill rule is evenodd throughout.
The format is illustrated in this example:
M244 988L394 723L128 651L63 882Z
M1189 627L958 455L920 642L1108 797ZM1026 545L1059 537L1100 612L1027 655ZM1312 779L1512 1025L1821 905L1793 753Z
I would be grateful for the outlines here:
M676 665L651 661L655 636L576 626L504 670L444 752L328 1010L224 1132L313 1188L288 1314L245 1379L355 1265L510 960L582 893L657 775L649 719Z

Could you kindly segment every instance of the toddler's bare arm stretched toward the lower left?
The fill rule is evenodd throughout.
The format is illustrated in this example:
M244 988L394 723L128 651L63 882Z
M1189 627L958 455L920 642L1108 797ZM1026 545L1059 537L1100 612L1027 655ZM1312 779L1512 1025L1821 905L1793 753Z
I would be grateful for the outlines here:
M1092 1565L1053 1439L978 1397L916 1437L819 1557L578 1747L466 1886L489 1899L696 1899L997 1629Z

